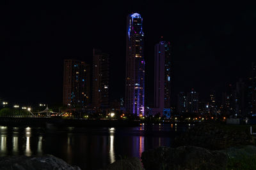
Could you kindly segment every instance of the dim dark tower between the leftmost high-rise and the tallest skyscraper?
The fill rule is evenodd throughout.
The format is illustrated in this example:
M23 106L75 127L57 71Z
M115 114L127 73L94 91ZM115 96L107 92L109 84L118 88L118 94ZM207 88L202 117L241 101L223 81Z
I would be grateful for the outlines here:
M109 55L93 48L92 106L104 110L109 106Z

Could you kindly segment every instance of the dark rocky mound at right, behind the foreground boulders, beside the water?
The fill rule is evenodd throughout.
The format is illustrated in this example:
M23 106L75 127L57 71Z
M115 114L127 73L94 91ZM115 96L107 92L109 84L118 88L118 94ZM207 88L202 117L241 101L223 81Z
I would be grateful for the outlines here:
M174 146L199 146L223 150L232 146L254 145L250 128L245 125L197 124L175 138Z

